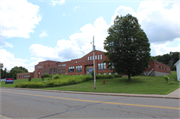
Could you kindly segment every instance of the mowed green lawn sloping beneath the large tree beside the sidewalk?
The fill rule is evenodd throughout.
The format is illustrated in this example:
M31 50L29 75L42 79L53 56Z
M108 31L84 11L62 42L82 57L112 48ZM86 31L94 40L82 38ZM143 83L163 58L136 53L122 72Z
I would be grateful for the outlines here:
M97 79L96 89L94 89L93 80L75 85L42 89L103 93L168 94L179 88L176 72L172 71L171 75L168 76L175 80L174 84L167 83L163 76L135 76L132 77L131 82L127 81L127 77ZM103 80L105 80L105 84L103 84Z

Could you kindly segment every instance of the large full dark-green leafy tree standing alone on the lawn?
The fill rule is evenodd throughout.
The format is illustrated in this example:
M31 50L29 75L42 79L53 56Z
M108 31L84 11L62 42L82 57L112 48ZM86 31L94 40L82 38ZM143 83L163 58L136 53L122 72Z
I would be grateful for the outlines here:
M117 73L128 75L128 81L131 81L131 75L139 75L146 70L150 44L136 17L130 14L117 16L108 34L104 41L108 68L113 67Z

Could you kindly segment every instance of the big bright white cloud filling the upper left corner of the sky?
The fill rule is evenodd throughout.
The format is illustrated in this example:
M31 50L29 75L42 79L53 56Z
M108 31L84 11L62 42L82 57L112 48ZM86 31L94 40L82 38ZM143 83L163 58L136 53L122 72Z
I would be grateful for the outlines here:
M1 0L0 8L0 35L4 37L29 38L41 20L39 6L27 0Z

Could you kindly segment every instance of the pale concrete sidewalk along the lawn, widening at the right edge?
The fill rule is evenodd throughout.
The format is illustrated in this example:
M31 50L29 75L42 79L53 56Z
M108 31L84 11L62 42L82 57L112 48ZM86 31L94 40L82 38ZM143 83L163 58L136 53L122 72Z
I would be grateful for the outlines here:
M98 93L98 92L77 92L77 91L59 91L59 90L43 90L43 89L30 89L30 88L14 88L20 90L33 90L33 91L45 91L45 92L57 92L57 93L72 93L72 94L89 94L89 95L107 95L107 96L128 96L128 97L147 97L147 98L168 98L168 99L180 99L180 88L167 95L158 94L127 94L127 93Z

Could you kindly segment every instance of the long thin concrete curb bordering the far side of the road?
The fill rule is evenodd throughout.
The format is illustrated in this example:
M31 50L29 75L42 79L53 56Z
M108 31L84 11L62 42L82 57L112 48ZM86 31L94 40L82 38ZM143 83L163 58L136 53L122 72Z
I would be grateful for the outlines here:
M177 96L168 95L156 95L156 94L126 94L126 93L96 93L96 92L76 92L76 91L59 91L59 90L43 90L43 89L31 89L31 88L6 88L5 89L17 89L17 90L31 90L31 91L43 91L43 92L56 92L56 93L71 93L71 94L88 94L88 95L104 95L104 96L126 96L126 97L146 97L146 98L164 98L164 99L180 99Z

